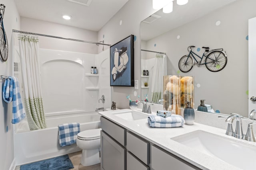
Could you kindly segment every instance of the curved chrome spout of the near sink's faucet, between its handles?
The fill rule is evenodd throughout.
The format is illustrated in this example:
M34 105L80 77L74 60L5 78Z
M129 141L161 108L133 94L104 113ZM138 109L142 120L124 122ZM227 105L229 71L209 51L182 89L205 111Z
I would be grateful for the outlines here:
M241 115L232 113L226 119L226 122L229 123L229 124L233 123L234 119L236 119L236 130L234 132L234 137L238 138L238 139L244 139L241 118L243 118Z

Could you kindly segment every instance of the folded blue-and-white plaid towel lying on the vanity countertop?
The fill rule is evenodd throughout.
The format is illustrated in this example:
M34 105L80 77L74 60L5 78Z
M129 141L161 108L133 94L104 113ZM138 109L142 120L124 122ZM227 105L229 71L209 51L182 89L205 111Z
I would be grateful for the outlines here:
M180 127L184 125L184 119L180 115L169 117L150 115L148 116L148 124L150 127Z

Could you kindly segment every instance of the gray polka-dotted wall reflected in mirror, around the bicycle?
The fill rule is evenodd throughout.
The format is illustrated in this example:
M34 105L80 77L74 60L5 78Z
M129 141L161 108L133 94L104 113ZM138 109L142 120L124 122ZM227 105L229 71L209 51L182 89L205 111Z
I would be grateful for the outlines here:
M147 42L147 48L164 51L168 55L167 73L178 74L178 62L187 55L187 47L223 48L228 56L226 67L220 72L210 72L205 66L194 66L188 73L195 82L195 106L200 99L221 113L239 113L248 117L248 19L256 17L255 0L238 0L198 20L173 29ZM216 21L221 21L216 26ZM180 35L180 39L177 36ZM197 52L197 48L201 48ZM200 88L196 85L200 84Z

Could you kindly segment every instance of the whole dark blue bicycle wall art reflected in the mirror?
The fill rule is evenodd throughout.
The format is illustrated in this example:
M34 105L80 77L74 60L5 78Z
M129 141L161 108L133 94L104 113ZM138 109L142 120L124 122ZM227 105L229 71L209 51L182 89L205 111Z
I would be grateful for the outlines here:
M212 72L218 72L226 66L228 59L226 51L223 51L223 49L209 50L209 47L202 47L205 49L205 51L202 54L202 57L200 57L194 51L192 51L194 47L195 46L189 46L188 55L181 57L179 61L180 71L189 72L194 64L196 64L198 67L205 65L206 68ZM195 56L197 56L198 60Z

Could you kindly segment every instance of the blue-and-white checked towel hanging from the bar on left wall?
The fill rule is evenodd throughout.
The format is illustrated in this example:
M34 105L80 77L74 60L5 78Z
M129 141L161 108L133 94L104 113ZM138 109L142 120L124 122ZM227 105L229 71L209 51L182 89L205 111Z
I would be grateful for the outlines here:
M8 79L4 81L2 96L6 103L12 102L12 123L19 123L26 117L26 112L22 105L18 78L9 76Z

